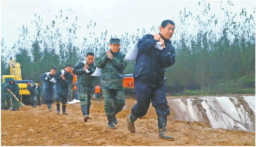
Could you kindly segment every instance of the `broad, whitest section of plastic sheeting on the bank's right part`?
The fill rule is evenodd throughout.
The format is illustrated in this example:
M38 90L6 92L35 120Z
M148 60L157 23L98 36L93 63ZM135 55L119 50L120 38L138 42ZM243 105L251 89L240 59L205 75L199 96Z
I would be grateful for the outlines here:
M235 97L201 97L201 105L213 128L254 132L255 124Z

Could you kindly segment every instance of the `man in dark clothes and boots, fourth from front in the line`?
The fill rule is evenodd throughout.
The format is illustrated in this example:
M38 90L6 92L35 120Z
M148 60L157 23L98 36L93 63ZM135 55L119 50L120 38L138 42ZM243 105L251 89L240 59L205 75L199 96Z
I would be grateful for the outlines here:
M55 102L57 106L56 113L59 114L60 109L60 102L62 104L62 114L67 115L68 112L66 111L67 102L68 102L68 94L69 94L69 84L71 84L73 80L73 76L70 73L71 65L67 65L65 70L61 70L57 72L54 79L57 80L56 82L56 89L55 89Z

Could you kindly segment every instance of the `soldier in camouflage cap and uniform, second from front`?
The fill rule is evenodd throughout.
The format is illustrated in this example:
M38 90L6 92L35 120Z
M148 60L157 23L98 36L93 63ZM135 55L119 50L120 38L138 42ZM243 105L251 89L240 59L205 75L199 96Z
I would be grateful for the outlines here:
M127 66L125 55L120 53L120 39L111 38L110 48L99 56L97 67L101 68L100 86L105 100L105 114L110 129L116 129L114 124L118 121L115 115L125 105L125 92L123 89L123 70Z

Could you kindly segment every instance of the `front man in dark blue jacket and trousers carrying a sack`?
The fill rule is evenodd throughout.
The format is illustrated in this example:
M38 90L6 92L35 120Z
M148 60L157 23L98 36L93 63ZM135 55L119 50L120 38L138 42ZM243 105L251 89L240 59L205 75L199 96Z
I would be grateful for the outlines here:
M147 113L150 102L156 108L158 116L159 137L174 140L166 130L167 116L170 109L166 99L165 71L175 62L175 48L171 45L171 37L175 24L171 20L164 20L160 33L145 35L138 41L138 56L136 58L133 77L135 80L135 96L137 103L127 116L127 126L131 133L135 133L134 121ZM160 49L156 42L161 42Z

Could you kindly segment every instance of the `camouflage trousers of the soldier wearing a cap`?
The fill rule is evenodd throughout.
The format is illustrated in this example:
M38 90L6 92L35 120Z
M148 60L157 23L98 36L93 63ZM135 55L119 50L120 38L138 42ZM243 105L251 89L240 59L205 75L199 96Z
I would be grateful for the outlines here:
M123 89L102 89L102 94L107 116L116 115L125 106L125 91Z

